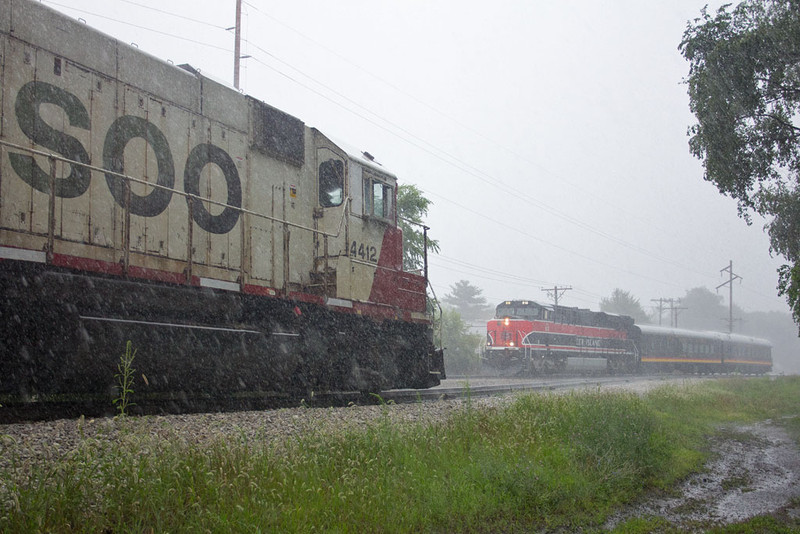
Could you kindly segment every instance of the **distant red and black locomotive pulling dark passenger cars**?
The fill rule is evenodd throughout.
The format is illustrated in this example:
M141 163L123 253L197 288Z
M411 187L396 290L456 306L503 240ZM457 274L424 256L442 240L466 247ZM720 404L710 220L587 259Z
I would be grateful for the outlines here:
M495 372L564 371L763 374L772 370L763 339L637 325L632 318L530 300L508 300L486 326L483 357Z

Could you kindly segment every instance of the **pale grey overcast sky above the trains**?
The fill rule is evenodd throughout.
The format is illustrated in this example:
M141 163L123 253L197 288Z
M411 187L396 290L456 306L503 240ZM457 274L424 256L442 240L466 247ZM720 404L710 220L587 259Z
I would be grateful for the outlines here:
M43 3L232 83L234 0ZM732 260L737 305L788 311L764 221L688 151L678 44L704 3L250 0L241 87L425 192L440 297L461 279L493 305L560 285L597 309L618 287L649 309L714 290Z

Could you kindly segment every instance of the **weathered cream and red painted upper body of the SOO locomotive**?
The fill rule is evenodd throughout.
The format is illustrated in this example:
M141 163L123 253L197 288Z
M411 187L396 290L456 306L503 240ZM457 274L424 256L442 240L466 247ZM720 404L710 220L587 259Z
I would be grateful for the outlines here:
M391 188L393 207L393 175L191 67L38 3L0 6L0 140L92 165L4 146L0 246L104 274L345 299L379 319L381 305L424 312L395 214L365 209L366 180ZM320 206L329 161L343 202Z

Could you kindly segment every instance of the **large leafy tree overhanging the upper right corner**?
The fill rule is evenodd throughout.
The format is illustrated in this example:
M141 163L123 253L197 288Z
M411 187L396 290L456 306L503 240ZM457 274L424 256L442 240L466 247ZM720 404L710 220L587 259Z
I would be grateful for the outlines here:
M746 0L706 9L680 44L689 61L691 153L739 215L771 219L770 251L800 324L800 0Z

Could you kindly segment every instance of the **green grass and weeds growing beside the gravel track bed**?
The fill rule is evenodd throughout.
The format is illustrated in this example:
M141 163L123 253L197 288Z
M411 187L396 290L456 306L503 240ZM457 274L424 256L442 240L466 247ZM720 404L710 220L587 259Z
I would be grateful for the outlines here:
M366 429L310 430L279 448L244 437L155 438L128 418L116 441L84 438L66 457L25 469L0 440L0 531L592 529L643 491L698 469L717 425L796 415L797 398L800 379L790 377L645 397L531 394L498 409L469 403L437 424L395 425L385 406ZM797 419L786 420L795 435ZM786 523L754 521L720 532L783 532ZM618 531L672 528L645 518Z

